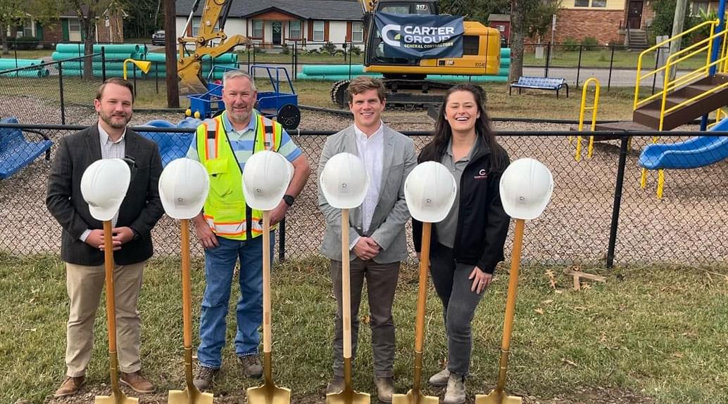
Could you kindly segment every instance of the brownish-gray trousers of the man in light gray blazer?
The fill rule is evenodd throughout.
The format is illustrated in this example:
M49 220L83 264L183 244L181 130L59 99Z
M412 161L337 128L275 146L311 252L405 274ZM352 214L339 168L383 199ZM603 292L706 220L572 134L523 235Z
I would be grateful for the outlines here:
M400 262L377 264L356 258L349 264L352 303L352 361L357 356L359 305L366 278L369 297L369 327L374 357L374 376L392 377L395 363L395 323L392 302L395 299ZM341 325L341 261L331 260L331 281L336 296L336 320L333 336L333 374L344 376L344 330Z

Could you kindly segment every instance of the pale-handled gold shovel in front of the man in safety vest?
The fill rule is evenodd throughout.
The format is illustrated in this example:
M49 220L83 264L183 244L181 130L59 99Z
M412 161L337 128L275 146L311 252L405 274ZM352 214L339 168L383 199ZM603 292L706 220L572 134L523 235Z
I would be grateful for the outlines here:
M289 404L290 389L273 383L271 355L271 226L270 211L263 211L263 366L264 384L248 388L249 404Z

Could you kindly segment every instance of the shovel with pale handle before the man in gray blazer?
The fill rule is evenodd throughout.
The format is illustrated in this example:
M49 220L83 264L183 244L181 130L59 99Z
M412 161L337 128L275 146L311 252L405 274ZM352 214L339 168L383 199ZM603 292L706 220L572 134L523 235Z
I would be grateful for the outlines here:
M327 404L369 404L368 393L352 389L352 306L349 286L349 209L341 209L341 322L344 328L344 389L326 395Z

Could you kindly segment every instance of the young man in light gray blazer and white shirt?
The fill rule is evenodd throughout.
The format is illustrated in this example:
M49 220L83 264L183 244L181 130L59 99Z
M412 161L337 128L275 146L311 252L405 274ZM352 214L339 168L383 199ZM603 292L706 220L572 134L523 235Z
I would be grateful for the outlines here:
M364 162L370 185L362 205L349 213L351 254L352 357L356 356L359 304L366 279L369 297L371 345L377 396L392 401L395 360L395 325L392 301L400 270L407 257L405 223L410 214L404 184L417 165L414 142L381 121L384 85L376 78L357 77L349 84L349 108L354 124L326 140L319 175L329 158L347 152ZM343 331L341 326L341 211L331 207L319 189L319 208L326 219L322 252L331 259L331 280L338 310L334 323L333 379L326 392L344 388Z

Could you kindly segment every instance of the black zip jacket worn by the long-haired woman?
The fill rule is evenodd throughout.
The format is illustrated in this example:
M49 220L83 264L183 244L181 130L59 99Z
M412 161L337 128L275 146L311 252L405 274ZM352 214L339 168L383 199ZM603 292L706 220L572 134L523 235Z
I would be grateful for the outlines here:
M473 157L460 178L460 205L454 243L455 261L477 265L486 273L493 273L496 264L503 261L503 246L508 234L510 217L503 210L499 183L509 162L508 153L499 145L488 148L485 142L476 142ZM505 162L502 169L491 171L494 153ZM422 162L422 161L419 161ZM439 161L438 161L439 162ZM422 222L412 219L414 249L422 249ZM438 242L432 226L430 246Z

